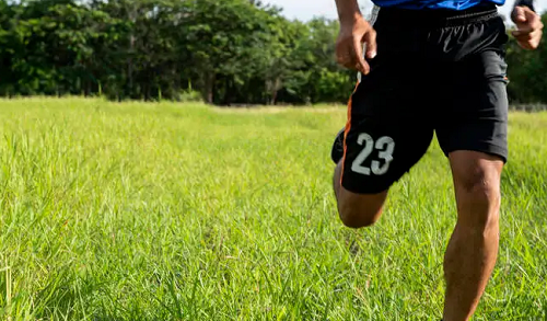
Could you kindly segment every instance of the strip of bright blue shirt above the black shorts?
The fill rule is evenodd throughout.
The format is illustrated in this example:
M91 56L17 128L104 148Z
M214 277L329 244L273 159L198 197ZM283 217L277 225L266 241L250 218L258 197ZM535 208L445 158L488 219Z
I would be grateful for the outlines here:
M372 0L372 2L381 8L466 10L481 3L503 5L505 0Z

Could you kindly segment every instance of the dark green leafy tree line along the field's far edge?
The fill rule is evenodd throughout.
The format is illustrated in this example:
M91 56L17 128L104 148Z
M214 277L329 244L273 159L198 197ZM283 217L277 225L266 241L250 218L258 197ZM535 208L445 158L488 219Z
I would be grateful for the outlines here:
M337 34L255 0L0 0L0 96L346 102L356 73L336 64ZM507 59L511 100L547 102L547 39L511 39Z

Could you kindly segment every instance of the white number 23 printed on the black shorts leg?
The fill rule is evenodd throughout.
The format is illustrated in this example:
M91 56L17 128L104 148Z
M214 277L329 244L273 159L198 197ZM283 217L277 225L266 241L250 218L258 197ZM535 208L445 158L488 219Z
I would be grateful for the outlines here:
M384 136L376 140L369 134L361 134L357 138L357 144L363 146L363 150L357 156L356 160L351 165L351 170L356 173L370 175L371 171L374 175L383 175L389 170L389 163L393 161L393 151L395 149L395 141L393 138ZM363 167L363 162L371 156L373 149L379 150L379 158L382 159L383 165L380 161L373 160L371 162L371 168Z

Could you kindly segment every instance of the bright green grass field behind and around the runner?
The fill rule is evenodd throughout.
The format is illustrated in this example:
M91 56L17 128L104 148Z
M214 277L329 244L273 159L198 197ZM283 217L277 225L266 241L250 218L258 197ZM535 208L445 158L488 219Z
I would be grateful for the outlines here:
M455 223L437 144L380 222L339 221L342 107L0 101L0 319L435 320ZM474 320L547 319L547 113L511 115Z

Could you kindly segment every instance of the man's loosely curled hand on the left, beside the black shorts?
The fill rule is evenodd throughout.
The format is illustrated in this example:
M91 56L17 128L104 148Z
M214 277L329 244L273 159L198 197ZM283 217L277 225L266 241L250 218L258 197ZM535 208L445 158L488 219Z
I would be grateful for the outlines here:
M370 66L363 57L363 44L366 44L366 58L376 56L376 32L362 16L340 23L340 34L336 42L336 57L341 66L370 72Z

